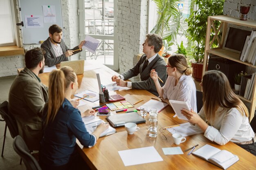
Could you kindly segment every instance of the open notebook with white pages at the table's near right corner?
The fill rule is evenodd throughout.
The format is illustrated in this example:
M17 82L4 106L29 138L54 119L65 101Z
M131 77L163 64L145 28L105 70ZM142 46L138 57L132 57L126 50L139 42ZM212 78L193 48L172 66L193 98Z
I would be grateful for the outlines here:
M208 144L199 148L192 154L209 161L224 170L239 160L238 156L232 154L231 152L227 150L220 150Z

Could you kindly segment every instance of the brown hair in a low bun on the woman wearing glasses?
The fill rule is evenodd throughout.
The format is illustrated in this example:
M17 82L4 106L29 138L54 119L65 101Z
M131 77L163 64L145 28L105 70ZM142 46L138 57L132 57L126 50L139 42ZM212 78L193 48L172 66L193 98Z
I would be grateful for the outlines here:
M175 67L177 71L185 75L192 74L192 68L188 66L186 62L186 57L183 54L175 54L168 58L168 62L171 67Z

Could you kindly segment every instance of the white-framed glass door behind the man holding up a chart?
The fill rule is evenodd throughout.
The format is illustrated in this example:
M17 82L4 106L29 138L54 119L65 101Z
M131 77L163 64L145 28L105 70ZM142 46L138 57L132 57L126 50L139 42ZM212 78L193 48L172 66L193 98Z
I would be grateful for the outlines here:
M117 36L115 35L116 0L79 0L79 36L90 35L99 40L96 53L83 51L81 58L97 60L118 70Z

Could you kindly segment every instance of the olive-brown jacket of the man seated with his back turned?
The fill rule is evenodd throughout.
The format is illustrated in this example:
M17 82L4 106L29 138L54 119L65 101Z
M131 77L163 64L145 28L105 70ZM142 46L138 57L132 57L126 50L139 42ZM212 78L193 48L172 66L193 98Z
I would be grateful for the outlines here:
M43 137L42 112L48 101L48 87L39 82L36 75L24 68L9 92L9 113L18 125L19 135L25 140L29 150L39 150Z

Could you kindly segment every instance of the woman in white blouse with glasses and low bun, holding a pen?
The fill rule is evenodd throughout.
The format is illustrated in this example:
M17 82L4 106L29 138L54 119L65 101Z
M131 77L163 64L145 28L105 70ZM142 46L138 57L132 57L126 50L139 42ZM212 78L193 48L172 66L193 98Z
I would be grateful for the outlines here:
M169 57L166 67L168 78L163 87L159 84L157 72L151 70L150 73L161 99L168 104L170 104L169 100L186 102L192 110L197 112L196 88L191 77L192 68L188 66L185 56L175 54Z

